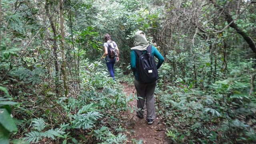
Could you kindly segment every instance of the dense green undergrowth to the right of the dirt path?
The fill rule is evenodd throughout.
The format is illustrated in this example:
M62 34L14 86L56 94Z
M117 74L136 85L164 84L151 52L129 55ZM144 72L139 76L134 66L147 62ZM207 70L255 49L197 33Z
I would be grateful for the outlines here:
M170 140L190 144L256 142L256 97L250 83L253 65L252 60L228 63L226 77L198 88L182 77L167 79L168 67L163 68L156 89L156 111L168 125Z

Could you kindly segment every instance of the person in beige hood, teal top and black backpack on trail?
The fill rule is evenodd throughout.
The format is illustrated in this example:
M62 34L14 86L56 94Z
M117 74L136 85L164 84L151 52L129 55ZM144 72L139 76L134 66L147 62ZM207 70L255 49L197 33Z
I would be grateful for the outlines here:
M131 69L135 80L134 85L137 91L137 107L136 116L144 118L144 105L146 101L148 124L153 124L156 118L154 108L154 91L158 77L158 69L164 62L164 57L154 47L150 45L146 39L144 32L135 33L134 46L131 48ZM154 60L154 56L158 59L158 64Z

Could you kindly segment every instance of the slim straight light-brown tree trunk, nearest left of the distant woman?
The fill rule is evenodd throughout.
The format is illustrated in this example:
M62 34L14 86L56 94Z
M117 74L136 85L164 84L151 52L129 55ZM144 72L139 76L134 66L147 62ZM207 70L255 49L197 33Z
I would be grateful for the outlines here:
M61 53L62 53L62 73L63 83L65 89L65 96L68 95L67 85L67 72L66 72L66 56L65 56L65 45L64 45L64 18L63 18L63 1L60 0L60 33L61 33Z

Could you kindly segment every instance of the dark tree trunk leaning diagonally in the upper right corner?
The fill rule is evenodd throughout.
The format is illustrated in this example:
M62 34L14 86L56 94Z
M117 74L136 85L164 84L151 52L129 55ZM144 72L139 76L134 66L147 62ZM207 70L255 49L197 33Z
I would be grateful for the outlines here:
M220 12L223 12L226 21L227 21L229 24L231 23L229 26L230 26L231 28L234 28L234 29L236 30L236 32L237 32L238 34L240 34L240 35L244 38L244 40L249 44L249 47L252 49L252 51L253 51L254 53L256 53L256 45L255 45L255 42L252 40L252 38L251 38L250 36L248 36L244 31L242 31L242 30L236 25L236 23L234 22L232 16L231 16L224 8L218 6L218 5L216 4L216 1L210 0L210 2L212 2L212 4L214 4L214 6L215 6L216 8L218 8L218 10L219 10Z

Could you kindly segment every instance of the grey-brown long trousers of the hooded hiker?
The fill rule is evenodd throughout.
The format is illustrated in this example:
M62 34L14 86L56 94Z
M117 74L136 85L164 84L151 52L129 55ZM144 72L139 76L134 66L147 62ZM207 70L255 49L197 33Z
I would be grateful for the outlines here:
M148 84L142 84L139 81L135 79L134 85L137 91L137 115L144 116L144 105L145 105L145 99L146 99L146 108L147 108L147 118L149 119L155 119L156 113L155 113L155 106L154 106L154 91L156 88L157 81L153 83Z

